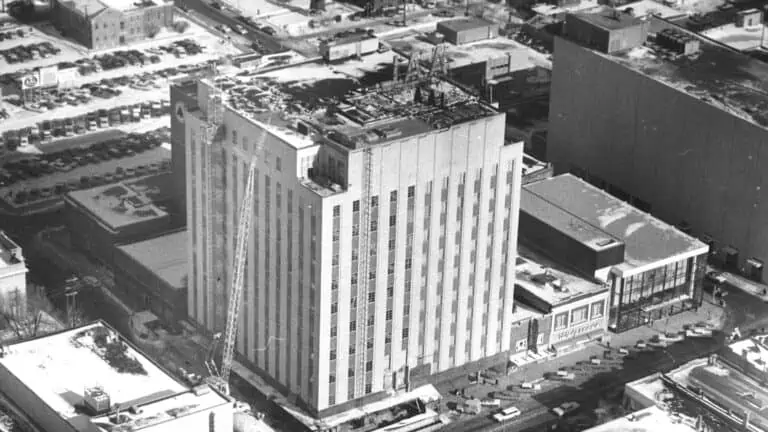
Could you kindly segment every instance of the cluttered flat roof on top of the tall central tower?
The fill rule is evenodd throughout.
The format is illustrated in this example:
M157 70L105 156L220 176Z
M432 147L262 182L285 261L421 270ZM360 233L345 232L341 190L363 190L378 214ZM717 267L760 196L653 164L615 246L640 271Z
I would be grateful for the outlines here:
M417 92L416 80L402 82L405 62L391 52L374 53L339 64L308 62L268 72L236 69L215 83L235 112L297 149L330 140L355 150L499 115L446 80L422 79ZM394 63L401 66L400 85L392 84ZM416 93L421 103L415 103ZM297 130L297 123L305 130Z

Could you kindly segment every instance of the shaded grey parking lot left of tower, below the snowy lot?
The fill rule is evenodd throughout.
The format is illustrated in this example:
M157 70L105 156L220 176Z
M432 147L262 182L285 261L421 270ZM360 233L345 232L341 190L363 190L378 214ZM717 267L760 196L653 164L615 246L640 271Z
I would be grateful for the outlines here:
M114 136L29 155L0 168L0 196L5 207L25 207L59 198L70 190L159 174L170 168L170 152L162 144L170 131Z

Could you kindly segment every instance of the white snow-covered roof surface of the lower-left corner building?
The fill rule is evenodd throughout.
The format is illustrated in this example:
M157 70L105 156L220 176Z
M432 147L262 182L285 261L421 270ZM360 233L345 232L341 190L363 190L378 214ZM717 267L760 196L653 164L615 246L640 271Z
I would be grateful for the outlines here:
M102 339L100 334L108 336ZM108 345L114 344L126 348L121 360L106 354ZM191 413L229 403L213 391L195 395L102 322L6 346L0 367L78 431L99 430L94 424L109 425L107 430L112 431L140 430L172 420L169 412L189 408L186 412ZM136 405L143 412L121 411L131 420L119 426L106 415L86 415L85 390L96 387L109 396L112 406Z

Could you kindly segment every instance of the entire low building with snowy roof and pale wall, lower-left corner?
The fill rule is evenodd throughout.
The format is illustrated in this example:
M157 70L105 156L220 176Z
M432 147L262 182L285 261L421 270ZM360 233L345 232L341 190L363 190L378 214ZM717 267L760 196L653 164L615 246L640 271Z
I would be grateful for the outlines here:
M0 387L4 401L40 432L233 427L229 397L177 381L101 321L4 345Z

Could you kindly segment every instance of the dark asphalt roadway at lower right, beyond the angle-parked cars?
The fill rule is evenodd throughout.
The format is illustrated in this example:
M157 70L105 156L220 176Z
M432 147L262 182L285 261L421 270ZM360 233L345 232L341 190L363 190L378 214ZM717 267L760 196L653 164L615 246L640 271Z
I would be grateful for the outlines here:
M447 432L506 432L543 431L557 423L551 408L563 402L575 401L581 404L580 414L588 414L601 398L623 389L627 382L640 379L658 371L669 371L691 360L715 353L726 345L727 334L739 327L745 336L750 330L768 327L768 304L732 287L726 287L728 319L723 332L716 332L712 338L690 338L674 343L667 348L651 348L627 358L606 362L610 370L599 372L580 385L565 383L552 390L530 395L520 392L515 405L523 411L517 419L497 423L489 415L478 415L466 421L454 422L443 430ZM614 347L618 348L618 347ZM604 364L606 364L604 363ZM588 369L589 366L585 366ZM577 372L577 375L579 373ZM578 380L578 378L577 378ZM529 408L530 407L530 408Z

